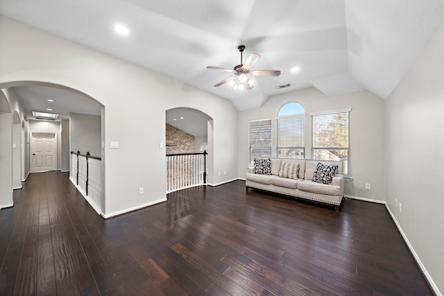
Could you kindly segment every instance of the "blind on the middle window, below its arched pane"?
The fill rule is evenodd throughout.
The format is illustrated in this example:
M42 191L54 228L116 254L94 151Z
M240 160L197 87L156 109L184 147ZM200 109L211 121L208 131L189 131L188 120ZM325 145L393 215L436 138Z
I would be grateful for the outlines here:
M304 158L305 116L278 118L278 157Z

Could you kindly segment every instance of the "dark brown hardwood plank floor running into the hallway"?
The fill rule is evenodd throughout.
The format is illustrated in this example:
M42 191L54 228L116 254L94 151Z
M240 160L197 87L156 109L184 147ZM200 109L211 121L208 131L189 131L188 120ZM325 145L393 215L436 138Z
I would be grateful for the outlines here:
M60 172L14 202L0 295L433 295L382 204L338 213L236 181L103 220Z

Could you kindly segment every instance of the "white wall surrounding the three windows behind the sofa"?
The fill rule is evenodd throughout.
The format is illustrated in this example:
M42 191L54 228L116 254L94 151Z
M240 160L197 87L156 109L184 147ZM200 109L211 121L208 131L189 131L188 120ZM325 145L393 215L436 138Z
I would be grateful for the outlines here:
M353 180L345 181L345 195L370 200L385 200L384 187L384 101L369 92L355 92L339 96L325 96L314 88L307 88L268 98L257 110L239 112L239 176L245 177L248 166L248 121L272 119L273 156L276 153L275 117L282 105L296 101L305 112L328 112L352 108L350 112L350 173ZM306 117L306 133L311 134L311 118ZM306 137L311 141L311 136ZM305 151L306 158L311 151ZM371 184L371 190L365 184Z

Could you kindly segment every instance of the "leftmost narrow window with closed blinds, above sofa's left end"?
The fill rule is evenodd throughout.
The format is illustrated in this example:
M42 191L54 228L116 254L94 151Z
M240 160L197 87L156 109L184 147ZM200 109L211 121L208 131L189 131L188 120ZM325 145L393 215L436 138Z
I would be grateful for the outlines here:
M250 164L255 158L271 157L271 119L250 121L248 125Z

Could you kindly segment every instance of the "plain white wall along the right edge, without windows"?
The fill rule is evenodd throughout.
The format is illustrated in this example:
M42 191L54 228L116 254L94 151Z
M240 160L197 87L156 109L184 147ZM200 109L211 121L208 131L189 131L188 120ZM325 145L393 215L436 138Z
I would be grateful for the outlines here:
M388 207L441 293L444 292L443 77L444 26L441 26L386 102L385 166Z

